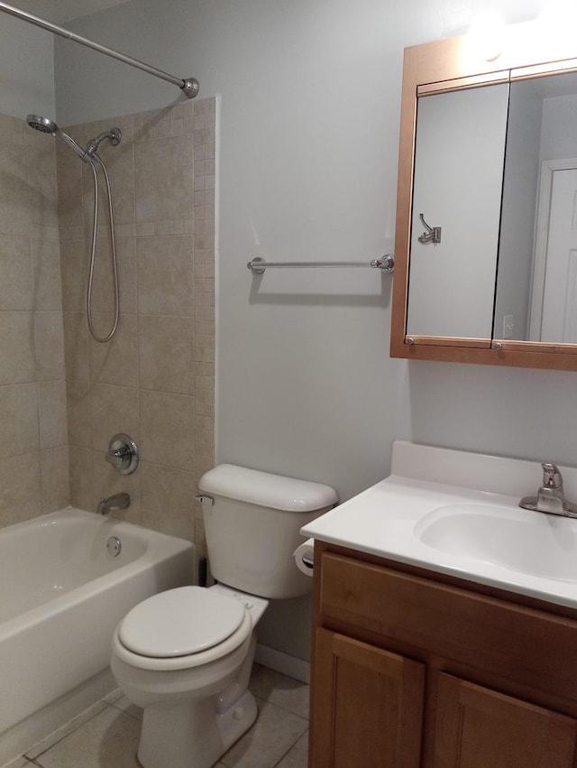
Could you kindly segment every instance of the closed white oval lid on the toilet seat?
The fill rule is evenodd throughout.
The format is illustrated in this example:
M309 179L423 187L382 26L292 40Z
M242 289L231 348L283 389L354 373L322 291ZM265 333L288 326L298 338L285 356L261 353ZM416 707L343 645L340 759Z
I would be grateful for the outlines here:
M169 589L129 611L118 637L141 656L188 656L222 643L243 623L245 611L239 600L214 589Z

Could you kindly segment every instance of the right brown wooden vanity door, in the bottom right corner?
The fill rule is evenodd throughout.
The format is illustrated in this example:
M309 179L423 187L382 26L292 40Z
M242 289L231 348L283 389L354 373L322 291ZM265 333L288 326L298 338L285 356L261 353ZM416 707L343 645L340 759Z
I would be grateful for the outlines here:
M573 768L577 721L439 675L434 768Z

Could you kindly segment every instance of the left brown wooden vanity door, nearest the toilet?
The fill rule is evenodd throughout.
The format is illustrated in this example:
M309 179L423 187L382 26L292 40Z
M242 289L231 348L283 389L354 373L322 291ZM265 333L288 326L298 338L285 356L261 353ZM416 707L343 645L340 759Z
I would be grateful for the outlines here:
M310 768L418 768L425 667L317 629Z

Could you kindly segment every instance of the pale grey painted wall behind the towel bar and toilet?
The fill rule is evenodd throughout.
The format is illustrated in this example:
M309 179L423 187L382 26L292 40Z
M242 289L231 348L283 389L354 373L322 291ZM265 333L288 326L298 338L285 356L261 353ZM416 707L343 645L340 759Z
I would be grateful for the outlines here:
M71 24L222 94L219 460L329 483L342 499L388 474L395 438L577 463L575 374L391 360L389 278L270 272L259 284L245 267L257 254L391 250L404 46L463 32L488 6L514 23L543 5L133 0ZM60 40L56 79L62 125L177 97Z

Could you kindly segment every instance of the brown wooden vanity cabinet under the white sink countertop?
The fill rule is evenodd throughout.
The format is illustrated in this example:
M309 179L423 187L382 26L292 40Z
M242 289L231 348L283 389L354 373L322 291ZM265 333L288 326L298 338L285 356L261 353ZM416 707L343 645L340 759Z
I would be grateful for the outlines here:
M577 768L577 612L316 542L309 768Z

